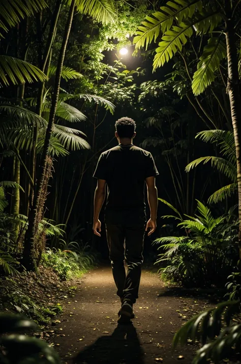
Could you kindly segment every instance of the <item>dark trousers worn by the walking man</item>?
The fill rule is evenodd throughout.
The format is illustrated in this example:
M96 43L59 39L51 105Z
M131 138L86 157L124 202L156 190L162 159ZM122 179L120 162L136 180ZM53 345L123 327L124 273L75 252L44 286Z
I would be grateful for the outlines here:
M143 263L144 224L106 223L110 261L117 295L122 301L136 302ZM127 263L127 273L124 261Z

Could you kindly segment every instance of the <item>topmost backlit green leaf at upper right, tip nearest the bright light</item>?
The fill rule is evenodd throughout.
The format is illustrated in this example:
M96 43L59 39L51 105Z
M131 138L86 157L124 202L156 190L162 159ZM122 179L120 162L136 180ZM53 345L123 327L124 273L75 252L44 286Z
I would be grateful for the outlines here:
M181 23L184 19L191 18L197 9L202 9L201 0L174 0L168 1L160 11L146 16L138 27L133 43L136 49L146 47L154 40L156 42L160 33L165 33L172 27L175 19Z

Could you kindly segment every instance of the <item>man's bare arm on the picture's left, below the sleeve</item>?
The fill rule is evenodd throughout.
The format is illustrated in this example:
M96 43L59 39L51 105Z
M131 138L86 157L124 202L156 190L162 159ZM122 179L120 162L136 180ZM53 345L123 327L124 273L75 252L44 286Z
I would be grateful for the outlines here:
M103 202L105 200L105 184L106 184L106 181L104 179L97 180L97 187L96 187L95 197L94 197L93 231L94 231L94 234L97 235L98 237L101 236L100 235L101 222L99 220L99 214L100 214Z

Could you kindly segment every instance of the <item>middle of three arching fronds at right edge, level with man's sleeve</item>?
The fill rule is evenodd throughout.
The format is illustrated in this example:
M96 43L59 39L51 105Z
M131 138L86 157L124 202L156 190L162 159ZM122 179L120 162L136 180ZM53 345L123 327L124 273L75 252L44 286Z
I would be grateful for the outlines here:
M195 168L198 164L205 164L207 162L211 162L212 167L217 168L221 173L224 173L228 178L230 178L233 182L236 181L237 178L237 170L236 167L233 166L232 163L227 161L221 157L201 157L192 161L185 168L186 172L189 172L192 168Z

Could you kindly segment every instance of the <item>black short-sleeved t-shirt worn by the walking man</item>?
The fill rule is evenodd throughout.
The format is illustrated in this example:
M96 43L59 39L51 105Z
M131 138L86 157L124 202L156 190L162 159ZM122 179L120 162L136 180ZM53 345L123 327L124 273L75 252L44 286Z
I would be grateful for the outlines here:
M106 180L106 211L144 211L145 178L158 174L150 152L119 144L100 155L94 177Z

